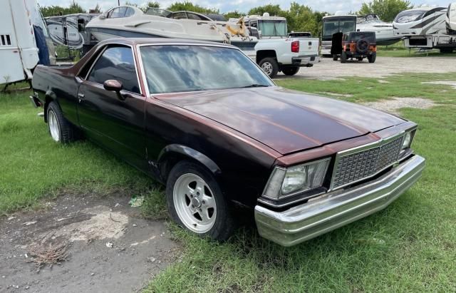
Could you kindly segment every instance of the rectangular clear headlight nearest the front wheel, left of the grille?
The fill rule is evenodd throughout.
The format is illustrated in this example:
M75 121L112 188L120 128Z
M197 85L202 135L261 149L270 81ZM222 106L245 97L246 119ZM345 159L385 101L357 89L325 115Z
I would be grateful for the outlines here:
M321 187L330 160L325 158L286 169L274 168L263 195L278 200L282 196Z

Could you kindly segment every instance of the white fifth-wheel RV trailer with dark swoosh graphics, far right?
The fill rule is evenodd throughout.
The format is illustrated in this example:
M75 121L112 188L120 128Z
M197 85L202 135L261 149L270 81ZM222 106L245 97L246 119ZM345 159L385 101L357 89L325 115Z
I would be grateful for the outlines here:
M442 53L456 48L456 35L447 34L446 7L419 7L400 12L393 21L395 36L406 48L438 48Z

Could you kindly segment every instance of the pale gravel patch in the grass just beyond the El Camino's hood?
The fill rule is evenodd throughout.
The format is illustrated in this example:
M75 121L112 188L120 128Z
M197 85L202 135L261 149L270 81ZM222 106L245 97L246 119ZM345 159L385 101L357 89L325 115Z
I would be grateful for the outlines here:
M363 103L363 105L398 115L400 108L427 109L435 106L435 103L425 98L392 98L390 100Z

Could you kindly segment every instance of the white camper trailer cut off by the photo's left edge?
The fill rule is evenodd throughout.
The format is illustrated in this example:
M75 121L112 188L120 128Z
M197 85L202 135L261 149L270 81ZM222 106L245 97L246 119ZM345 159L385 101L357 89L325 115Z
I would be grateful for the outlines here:
M46 53L47 61L41 63L51 63L38 4L36 0L0 0L0 7L0 84L30 80L40 61L37 43L41 55Z

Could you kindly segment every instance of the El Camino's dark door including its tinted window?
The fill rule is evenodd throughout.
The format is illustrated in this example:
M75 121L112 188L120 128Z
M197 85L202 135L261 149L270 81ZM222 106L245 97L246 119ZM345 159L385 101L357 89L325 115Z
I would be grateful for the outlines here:
M116 80L123 90L105 90ZM108 46L90 68L78 90L78 119L88 137L138 168L147 168L142 96L130 46Z

